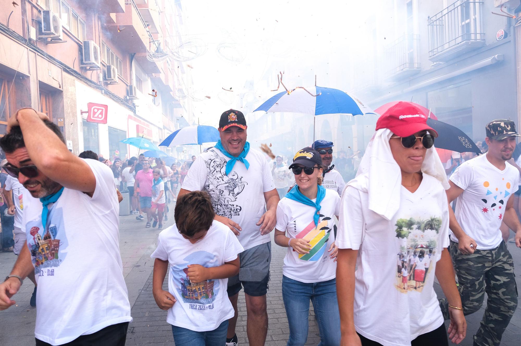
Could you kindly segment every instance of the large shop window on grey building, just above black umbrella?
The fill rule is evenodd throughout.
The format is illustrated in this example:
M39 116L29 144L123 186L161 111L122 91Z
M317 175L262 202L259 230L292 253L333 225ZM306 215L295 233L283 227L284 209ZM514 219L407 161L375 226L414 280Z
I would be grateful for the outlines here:
M472 133L472 89L470 81L452 84L427 93L427 108L439 120L458 127L470 138Z

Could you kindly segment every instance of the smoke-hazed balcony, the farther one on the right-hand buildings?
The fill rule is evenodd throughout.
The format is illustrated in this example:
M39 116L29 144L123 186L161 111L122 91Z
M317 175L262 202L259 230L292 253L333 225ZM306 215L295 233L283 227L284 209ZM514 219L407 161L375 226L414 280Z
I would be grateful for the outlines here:
M404 34L387 47L383 56L388 80L398 81L420 71L416 55L418 44L419 35Z

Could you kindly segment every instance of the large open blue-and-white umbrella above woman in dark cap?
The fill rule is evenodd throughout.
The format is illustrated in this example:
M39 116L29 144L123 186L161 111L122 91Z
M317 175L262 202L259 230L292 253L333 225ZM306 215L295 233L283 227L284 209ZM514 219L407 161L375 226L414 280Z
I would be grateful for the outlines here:
M306 90L318 96L310 95ZM319 95L320 94L320 95ZM290 94L281 92L254 110L265 112L293 112L319 116L321 114L375 114L359 99L339 89L310 86L294 89Z

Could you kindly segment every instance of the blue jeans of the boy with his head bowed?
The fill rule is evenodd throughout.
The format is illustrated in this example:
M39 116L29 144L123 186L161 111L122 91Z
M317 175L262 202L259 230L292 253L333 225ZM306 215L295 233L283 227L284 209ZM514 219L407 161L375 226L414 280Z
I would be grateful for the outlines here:
M228 320L221 323L216 329L209 331L193 331L187 328L172 326L173 341L176 346L224 346L227 330Z

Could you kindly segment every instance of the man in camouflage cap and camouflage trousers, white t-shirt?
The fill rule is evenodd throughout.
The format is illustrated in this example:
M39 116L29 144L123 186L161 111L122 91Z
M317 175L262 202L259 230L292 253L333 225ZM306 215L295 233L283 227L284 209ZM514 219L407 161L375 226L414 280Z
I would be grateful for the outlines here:
M519 171L510 160L516 146L515 124L493 120L486 126L485 155L462 163L451 175L447 198L457 198L450 210L450 252L465 314L480 309L487 292L487 309L474 336L478 346L497 346L517 306L512 255L501 236L501 222L516 233L521 247L521 224L510 198L519 185ZM446 304L443 315L448 317Z

